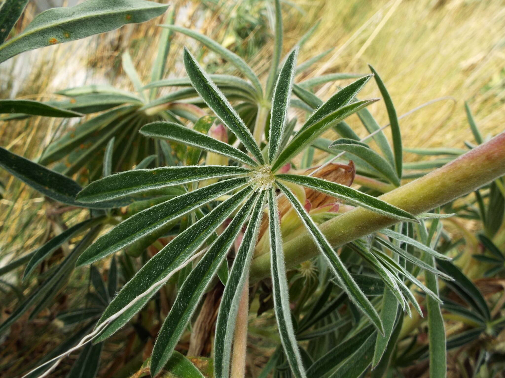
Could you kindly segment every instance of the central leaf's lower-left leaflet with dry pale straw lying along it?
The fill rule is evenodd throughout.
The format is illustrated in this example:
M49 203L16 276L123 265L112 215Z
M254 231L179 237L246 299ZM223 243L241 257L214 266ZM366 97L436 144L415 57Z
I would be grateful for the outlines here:
M206 187L211 186L213 185ZM113 335L140 311L149 299L165 284L164 280L180 269L250 192L250 187L246 187L216 206L205 217L199 219L178 234L161 251L144 264L135 276L121 288L118 295L105 309L102 318L99 320L99 324L107 321L120 311L124 312L119 316L116 315L117 318L110 322L105 330L95 339L95 342L103 341Z

